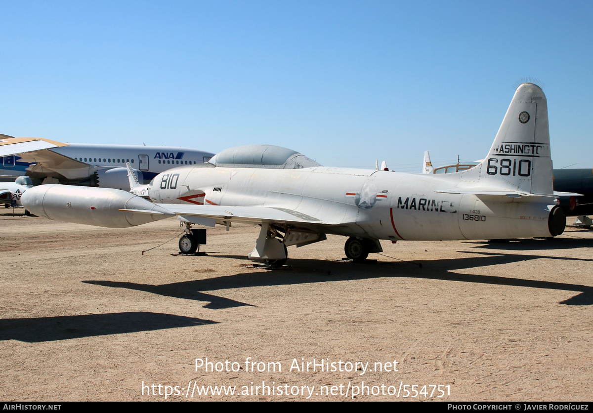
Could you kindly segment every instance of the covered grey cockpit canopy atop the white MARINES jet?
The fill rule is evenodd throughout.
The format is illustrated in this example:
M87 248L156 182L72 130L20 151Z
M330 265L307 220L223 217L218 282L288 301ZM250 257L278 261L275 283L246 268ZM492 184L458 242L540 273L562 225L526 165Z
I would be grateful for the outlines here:
M245 145L225 149L208 161L222 168L299 169L321 165L307 156L275 145Z

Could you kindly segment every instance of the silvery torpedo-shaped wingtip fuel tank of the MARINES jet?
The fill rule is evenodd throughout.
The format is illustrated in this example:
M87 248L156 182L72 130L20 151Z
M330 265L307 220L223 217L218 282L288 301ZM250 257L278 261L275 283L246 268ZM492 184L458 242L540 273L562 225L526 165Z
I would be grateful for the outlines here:
M110 188L39 185L27 190L21 202L28 211L47 219L108 228L127 228L175 215L134 194Z

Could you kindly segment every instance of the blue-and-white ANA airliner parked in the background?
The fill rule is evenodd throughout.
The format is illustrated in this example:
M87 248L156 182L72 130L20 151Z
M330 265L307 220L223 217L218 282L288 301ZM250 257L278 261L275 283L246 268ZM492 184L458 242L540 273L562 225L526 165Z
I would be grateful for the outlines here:
M174 146L61 143L0 135L0 175L27 175L44 184L128 190L126 162L142 181L178 165L207 162L214 154Z

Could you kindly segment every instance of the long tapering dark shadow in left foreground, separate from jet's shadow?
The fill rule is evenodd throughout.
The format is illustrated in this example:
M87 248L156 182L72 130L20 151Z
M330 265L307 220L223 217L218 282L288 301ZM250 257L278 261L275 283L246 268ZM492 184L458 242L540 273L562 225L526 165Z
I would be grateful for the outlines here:
M218 322L151 312L4 318L0 319L0 340L57 341L205 324L218 324Z

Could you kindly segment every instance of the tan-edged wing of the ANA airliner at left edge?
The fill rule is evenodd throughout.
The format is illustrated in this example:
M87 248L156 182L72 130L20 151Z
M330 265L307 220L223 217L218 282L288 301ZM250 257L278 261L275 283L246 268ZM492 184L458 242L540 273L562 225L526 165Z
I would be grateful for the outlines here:
M68 179L88 177L88 168L92 165L86 162L53 152L52 148L68 146L68 143L38 137L13 137L0 140L0 156L18 155L21 161L36 164L28 170L32 176L58 177L62 175ZM84 169L84 171L79 171Z

